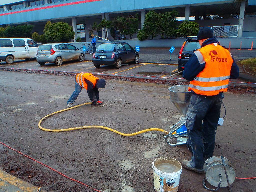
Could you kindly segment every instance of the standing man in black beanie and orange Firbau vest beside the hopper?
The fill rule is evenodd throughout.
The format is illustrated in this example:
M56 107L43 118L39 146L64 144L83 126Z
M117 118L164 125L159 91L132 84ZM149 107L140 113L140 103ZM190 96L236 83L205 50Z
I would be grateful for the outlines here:
M229 79L239 77L239 68L230 52L218 45L210 28L201 28L197 38L201 48L190 57L183 71L192 92L186 121L192 157L181 163L186 169L204 173L204 163L215 148L222 93L228 91Z

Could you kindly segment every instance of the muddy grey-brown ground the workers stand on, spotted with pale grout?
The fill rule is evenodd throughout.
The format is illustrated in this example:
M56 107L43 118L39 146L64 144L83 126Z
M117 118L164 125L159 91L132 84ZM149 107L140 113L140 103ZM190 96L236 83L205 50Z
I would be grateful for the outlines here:
M85 105L63 112L45 120L42 126L65 129L101 125L123 133L155 127L168 130L180 117L169 99L170 86L107 79L106 88L100 90L103 106ZM100 129L60 133L40 130L39 120L65 109L73 91L73 76L0 71L0 141L104 192L153 192L155 158L190 158L186 146L168 146L162 132L123 137ZM88 101L87 93L82 91L75 104ZM255 94L229 92L223 101L227 115L217 131L214 155L220 155L221 147L237 177L255 177ZM3 170L46 191L93 191L3 145L0 154ZM179 191L206 191L203 178L204 174L183 169ZM255 180L235 180L232 188L256 191Z

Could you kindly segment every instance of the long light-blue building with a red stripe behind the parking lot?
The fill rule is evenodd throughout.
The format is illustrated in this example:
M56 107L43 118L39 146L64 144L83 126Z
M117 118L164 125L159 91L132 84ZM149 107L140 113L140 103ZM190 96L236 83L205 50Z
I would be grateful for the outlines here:
M0 26L34 25L34 31L42 34L47 21L66 22L73 27L75 39L90 41L93 23L103 18L139 13L141 29L150 10L173 9L186 20L194 17L199 27L212 27L216 36L256 37L256 0L0 0ZM213 15L226 17L209 19ZM98 35L104 37L101 31Z

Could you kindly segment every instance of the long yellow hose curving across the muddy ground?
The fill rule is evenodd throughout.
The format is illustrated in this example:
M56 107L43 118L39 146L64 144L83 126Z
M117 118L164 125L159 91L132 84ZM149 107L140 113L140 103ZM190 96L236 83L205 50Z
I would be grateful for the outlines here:
M145 133L145 132L148 132L148 131L161 131L161 132L164 132L165 134L168 134L167 131L165 131L163 129L158 129L158 128L145 129L145 130L142 130L142 131L139 131L139 132L136 132L136 133L125 134L125 133L121 133L119 131L116 131L114 129L111 129L109 127L103 127L103 126L83 126L83 127L73 127L73 128L68 128L68 129L45 129L44 127L41 126L42 121L44 121L46 118L48 118L52 115L55 115L57 113L61 113L63 111L68 111L68 110L71 110L71 109L75 109L77 107L81 107L83 105L88 105L88 104L91 104L91 102L90 103L84 103L84 104L81 104L81 105L77 105L77 106L74 106L74 107L71 107L71 108L68 108L68 109L63 109L63 110L57 111L55 113L49 114L49 115L45 116L44 118L42 118L39 121L38 127L43 131L50 131L50 132L63 132L63 131L74 131L74 130L79 130L79 129L100 128L100 129L106 129L106 130L112 131L112 132L117 133L117 134L122 135L122 136L134 136L134 135L138 135L138 134Z

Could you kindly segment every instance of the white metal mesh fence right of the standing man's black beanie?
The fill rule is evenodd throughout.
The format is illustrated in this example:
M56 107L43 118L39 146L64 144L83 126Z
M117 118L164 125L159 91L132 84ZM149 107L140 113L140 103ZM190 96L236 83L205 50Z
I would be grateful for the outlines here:
M237 37L238 36L238 25L214 26L209 28L212 29L213 34L216 37Z

